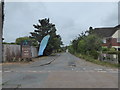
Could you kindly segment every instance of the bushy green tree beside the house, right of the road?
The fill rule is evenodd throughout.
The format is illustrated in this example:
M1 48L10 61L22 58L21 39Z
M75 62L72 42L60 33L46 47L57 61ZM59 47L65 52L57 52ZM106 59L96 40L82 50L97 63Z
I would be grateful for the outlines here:
M88 35L86 35L86 32ZM74 39L69 47L69 51L72 53L81 53L91 55L94 58L98 57L98 51L101 50L102 40L99 36L94 34L92 27L89 31L81 33L77 39Z

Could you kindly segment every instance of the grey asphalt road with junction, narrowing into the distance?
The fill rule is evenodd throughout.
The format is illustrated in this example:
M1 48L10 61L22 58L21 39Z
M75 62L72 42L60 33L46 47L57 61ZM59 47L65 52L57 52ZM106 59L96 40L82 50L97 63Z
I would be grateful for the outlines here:
M3 88L118 88L117 69L70 53L37 58L29 64L5 64L2 79Z

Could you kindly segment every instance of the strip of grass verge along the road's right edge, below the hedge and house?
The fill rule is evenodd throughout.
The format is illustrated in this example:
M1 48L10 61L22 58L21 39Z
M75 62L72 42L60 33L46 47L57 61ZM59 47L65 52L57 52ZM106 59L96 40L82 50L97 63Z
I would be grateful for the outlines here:
M81 55L81 54L78 54L78 53L76 53L74 55L79 57L79 58L82 58L82 59L84 59L86 61L98 64L98 65L102 65L102 66L106 66L106 67L120 68L120 64L112 64L112 63L109 63L109 62L100 61L100 60L97 60L97 59L93 59L91 56Z

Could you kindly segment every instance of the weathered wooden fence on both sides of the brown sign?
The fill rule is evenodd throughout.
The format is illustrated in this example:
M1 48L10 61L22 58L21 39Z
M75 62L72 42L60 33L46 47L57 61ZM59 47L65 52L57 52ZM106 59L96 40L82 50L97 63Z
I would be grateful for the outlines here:
M37 57L37 49L31 46L32 57ZM20 61L21 46L20 45L3 45L3 62Z

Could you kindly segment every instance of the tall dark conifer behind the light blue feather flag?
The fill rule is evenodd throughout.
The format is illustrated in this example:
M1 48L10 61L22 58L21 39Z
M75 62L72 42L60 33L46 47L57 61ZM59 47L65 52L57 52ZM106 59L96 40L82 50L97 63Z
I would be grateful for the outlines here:
M60 49L60 45L62 45L60 35L56 34L55 24L50 23L49 18L38 20L39 24L33 25L35 30L31 32L31 38L36 39L36 41L41 43L41 40L46 36L50 35L50 39L48 41L48 45L44 51L44 55L49 55L53 50Z

